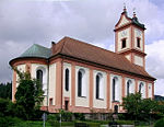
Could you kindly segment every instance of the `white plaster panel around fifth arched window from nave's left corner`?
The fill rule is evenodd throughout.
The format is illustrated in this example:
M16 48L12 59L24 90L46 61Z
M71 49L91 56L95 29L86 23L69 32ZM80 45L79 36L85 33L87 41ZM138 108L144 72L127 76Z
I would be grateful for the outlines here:
M136 83L134 83L134 79L130 79L130 78L126 78L125 80L125 95L127 95L127 82L131 80L131 84L130 84L130 88L129 88L129 93L134 93L134 88L136 88Z

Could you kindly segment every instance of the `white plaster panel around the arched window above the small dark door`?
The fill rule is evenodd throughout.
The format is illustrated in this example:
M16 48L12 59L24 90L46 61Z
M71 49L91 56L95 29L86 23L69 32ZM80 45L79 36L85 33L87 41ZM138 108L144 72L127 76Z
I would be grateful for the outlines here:
M110 74L110 103L113 102L113 79L114 77L117 77L118 78L118 88L116 88L116 92L118 93L118 96L116 96L116 101L119 101L120 103L122 102L121 100L121 90L122 90L122 78L120 76L117 76L117 74ZM110 108L112 108L112 105L110 105Z

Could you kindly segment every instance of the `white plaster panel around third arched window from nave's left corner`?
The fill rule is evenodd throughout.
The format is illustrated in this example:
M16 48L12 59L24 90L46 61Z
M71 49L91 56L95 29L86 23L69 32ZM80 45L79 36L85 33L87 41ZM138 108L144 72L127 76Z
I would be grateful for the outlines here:
M94 83L93 83L93 107L96 107L96 108L106 108L106 85L107 85L107 82L106 82L106 80L107 80L107 78L106 78L106 72L103 72L103 71L97 71L97 70L94 70L93 71L93 80L94 80ZM104 82L104 86L103 86L103 92L102 92L102 96L104 96L103 99L101 99L101 100L97 100L96 99L96 74L97 73L102 73L103 74L103 82ZM101 91L101 89L99 89L99 91Z

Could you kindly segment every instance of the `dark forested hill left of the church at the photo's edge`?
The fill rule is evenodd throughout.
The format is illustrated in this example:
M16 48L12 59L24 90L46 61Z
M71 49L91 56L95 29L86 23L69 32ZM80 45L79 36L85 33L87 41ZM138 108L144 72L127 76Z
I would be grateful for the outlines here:
M10 99L12 96L12 83L0 83L0 97Z

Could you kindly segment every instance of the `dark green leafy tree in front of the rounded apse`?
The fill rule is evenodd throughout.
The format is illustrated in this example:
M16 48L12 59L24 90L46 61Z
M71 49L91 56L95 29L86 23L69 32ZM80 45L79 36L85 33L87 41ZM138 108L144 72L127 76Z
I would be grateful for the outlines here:
M15 93L16 107L19 115L25 119L33 117L35 111L40 107L44 100L42 84L39 81L32 79L30 72L21 72L14 69L20 78L19 86Z

